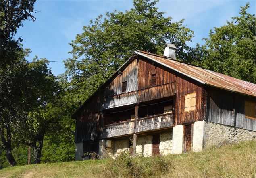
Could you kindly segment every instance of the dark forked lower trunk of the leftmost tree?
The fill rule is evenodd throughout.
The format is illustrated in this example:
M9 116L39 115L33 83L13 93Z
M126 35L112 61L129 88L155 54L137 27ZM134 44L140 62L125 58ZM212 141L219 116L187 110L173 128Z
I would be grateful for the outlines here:
M0 135L1 135L2 143L4 144L4 147L6 150L7 161L9 162L10 166L17 166L17 162L15 161L12 155L12 147L11 147L12 137L11 137L10 126L8 125L6 127L6 138L4 137L3 128L1 128Z

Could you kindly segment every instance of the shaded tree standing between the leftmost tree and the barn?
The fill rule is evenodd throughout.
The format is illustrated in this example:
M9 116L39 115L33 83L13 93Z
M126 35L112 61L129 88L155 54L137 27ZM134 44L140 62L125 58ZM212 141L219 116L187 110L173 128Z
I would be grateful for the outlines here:
M17 128L14 127L16 134L20 136L17 138L33 148L36 164L41 162L44 135L56 121L48 114L48 108L60 90L47 62L46 59L35 58L27 65L28 70L23 74L21 90L26 90L27 95L23 95L22 100L28 104L23 104L23 114L19 115Z

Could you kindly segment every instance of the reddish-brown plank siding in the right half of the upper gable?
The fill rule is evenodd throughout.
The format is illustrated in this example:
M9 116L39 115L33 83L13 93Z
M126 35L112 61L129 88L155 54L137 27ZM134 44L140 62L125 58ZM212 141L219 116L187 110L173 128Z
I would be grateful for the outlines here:
M170 71L156 67L144 60L139 60L138 90L150 88L151 75L156 74L156 85L164 85L176 81L176 76Z

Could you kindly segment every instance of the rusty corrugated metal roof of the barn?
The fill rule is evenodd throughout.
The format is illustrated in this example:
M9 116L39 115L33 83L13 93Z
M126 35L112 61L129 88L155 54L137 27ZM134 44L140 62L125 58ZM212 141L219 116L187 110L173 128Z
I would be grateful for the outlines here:
M155 55L144 51L135 51L137 55L144 56L156 63L164 65L174 71L177 71L187 77L190 77L202 84L210 85L213 87L243 93L246 95L256 96L256 84L239 80L227 75L189 65L176 60L168 59L164 56Z

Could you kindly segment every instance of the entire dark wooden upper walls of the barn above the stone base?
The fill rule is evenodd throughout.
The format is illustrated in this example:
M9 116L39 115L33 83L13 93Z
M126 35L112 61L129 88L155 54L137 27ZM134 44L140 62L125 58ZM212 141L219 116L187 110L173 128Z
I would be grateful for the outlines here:
M247 119L244 114L245 100L255 102L255 97L206 87L144 57L134 56L128 62L73 115L76 119L75 142L120 136L118 129L127 135L204 119L256 131L256 120ZM193 95L191 102L194 105L187 110L185 98L189 94ZM173 107L171 114L160 112L160 115L152 116L143 107L169 100L173 102L170 104ZM138 108L136 120L132 116L135 106ZM127 117L111 114L127 109L132 109L126 112Z

